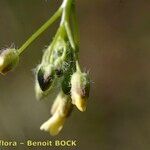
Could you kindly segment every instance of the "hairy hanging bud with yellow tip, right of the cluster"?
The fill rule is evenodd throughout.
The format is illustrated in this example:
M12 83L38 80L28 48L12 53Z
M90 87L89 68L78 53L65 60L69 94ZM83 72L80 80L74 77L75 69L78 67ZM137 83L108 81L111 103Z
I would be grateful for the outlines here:
M75 72L71 77L72 103L80 111L86 110L87 98L89 97L90 81L86 73Z

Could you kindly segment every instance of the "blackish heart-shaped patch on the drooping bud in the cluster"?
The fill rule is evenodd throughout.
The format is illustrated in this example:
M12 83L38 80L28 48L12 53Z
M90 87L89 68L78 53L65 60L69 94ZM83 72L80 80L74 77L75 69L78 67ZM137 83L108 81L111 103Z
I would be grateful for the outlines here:
M41 90L46 91L52 85L54 75L52 74L45 75L44 71L40 68L37 74L37 79Z

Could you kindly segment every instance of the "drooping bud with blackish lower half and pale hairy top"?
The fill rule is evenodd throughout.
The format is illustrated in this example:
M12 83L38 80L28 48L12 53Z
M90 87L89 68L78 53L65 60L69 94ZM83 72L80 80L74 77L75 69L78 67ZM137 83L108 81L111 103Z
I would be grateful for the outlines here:
M42 91L48 90L55 79L52 65L40 66L37 71L37 80Z

